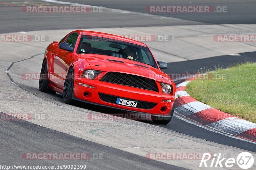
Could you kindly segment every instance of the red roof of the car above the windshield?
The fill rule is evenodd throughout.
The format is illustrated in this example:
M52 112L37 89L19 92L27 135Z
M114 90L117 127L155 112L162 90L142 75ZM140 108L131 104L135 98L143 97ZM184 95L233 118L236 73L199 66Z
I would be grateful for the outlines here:
M109 33L101 33L101 32L95 32L95 31L85 31L85 30L79 30L82 32L83 35L91 35L91 36L98 36L98 37L103 37L103 38L109 38L109 39L114 39L114 40L120 40L124 42L130 42L133 44L137 44L143 47L148 47L146 44L140 41L132 40L126 37L114 35L114 34L109 34Z

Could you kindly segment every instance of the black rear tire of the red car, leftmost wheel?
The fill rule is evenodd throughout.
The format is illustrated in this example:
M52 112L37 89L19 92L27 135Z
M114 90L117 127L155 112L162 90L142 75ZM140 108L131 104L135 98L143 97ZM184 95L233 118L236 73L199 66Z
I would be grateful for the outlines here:
M40 78L39 78L39 90L41 92L46 92L50 94L55 94L56 92L52 91L49 87L49 80L48 80L48 67L47 67L47 60L45 59L42 64Z

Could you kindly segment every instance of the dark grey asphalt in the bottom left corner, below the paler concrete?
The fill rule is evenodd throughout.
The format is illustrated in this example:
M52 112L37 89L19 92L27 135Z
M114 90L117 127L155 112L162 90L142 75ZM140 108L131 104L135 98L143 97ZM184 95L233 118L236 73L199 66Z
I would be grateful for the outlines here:
M159 161L148 161L129 152L120 152L101 144L48 129L23 120L1 121L1 164L42 165L42 160L23 159L23 153L89 153L88 160L46 160L43 165L90 165L90 169L183 169ZM33 147L35 145L36 147ZM93 146L93 147L92 147ZM14 151L14 152L13 152ZM9 153L9 154L7 154ZM96 154L97 153L97 154ZM96 159L96 158L101 159ZM112 162L110 164L110 162Z

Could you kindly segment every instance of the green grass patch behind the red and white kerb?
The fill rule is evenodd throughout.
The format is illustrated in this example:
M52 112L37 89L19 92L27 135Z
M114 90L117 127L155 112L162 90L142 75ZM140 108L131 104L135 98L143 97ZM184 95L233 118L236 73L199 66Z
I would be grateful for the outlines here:
M256 63L216 68L208 75L212 77L188 83L188 94L218 110L256 123Z

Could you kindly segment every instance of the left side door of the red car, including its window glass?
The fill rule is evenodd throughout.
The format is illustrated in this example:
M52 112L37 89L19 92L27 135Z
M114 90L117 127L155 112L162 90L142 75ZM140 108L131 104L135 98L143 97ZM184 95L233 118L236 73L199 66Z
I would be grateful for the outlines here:
M66 39L65 43L69 43L74 48L78 33L71 33ZM63 89L65 77L64 73L66 72L66 60L72 54L72 52L58 48L56 53L54 53L53 58L53 76L55 76L56 86L60 89Z

